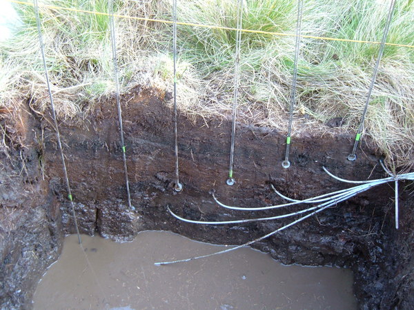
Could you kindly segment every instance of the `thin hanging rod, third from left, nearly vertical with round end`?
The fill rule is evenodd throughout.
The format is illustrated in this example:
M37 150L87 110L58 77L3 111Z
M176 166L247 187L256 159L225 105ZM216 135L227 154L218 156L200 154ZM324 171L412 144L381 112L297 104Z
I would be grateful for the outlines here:
M177 130L177 0L172 0L172 59L174 61L174 148L175 148L175 184L176 192L183 190L179 183L178 130Z

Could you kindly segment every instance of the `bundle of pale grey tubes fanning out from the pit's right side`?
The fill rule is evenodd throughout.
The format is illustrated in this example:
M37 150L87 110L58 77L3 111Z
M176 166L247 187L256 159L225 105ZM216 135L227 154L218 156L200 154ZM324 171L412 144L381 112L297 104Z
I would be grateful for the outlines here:
M384 167L384 164L381 162L382 167ZM245 220L225 220L225 221L201 221L201 220L188 220L186 218L182 218L181 216L177 216L177 214L175 214L174 212L172 212L170 210L170 208L168 208L168 211L170 212L170 214L172 216L174 216L175 218L179 219L179 220L183 220L184 222L187 223L194 223L194 224L201 224L201 225L227 225L227 224L240 224L240 223L250 223L250 222L256 222L256 221L260 221L260 220L274 220L277 218L286 218L286 217L290 217L290 216L295 216L295 215L299 215L299 214L306 214L306 212L308 212L308 214L299 217L297 220L293 220L292 222L288 223L287 225L284 225L282 227L280 227L279 229L276 229L275 231L270 232L269 234L266 234L260 238L257 238L255 240L246 242L244 245L239 245L237 247L233 247L230 249L226 249L224 251L219 251L219 252L215 252L212 254L207 254L207 255L203 255L203 256L197 256L197 257L193 257L193 258L186 258L183 260L173 260L173 261L169 261L169 262L155 262L155 265L169 265L169 264L174 264L176 262L188 262L190 260L195 260L195 259L199 259L199 258L207 258L210 256L214 256L217 254L224 254L230 251L234 251L236 249L239 249L241 247L245 247L247 245L251 245L254 242L258 242L260 240L263 240L265 238L268 238L270 236L273 236L274 234L276 234L279 231L282 231L290 226L293 226L299 222L302 222L302 220L305 220L306 218L310 218L311 216L324 211L324 209L327 209L328 207L333 207L335 205L337 205L338 203L341 203L344 200L348 200L349 198L352 198L353 196L360 194L362 192L366 192L368 189L371 189L377 185L381 185L384 183L388 183L388 182L395 182L395 228L398 229L398 180L414 180L414 172L408 173L408 174L400 174L400 175L395 175L395 174L391 174L391 172L388 171L388 169L386 169L386 167L384 167L384 170L390 174L390 176L388 178L381 178L381 179L377 179L377 180L365 180L365 181L353 181L353 180L345 180L343 178L338 178L337 176L331 174L331 172L328 172L328 169L326 169L325 167L323 167L324 171L326 172L326 174L328 174L329 176L332 176L333 178L335 178L336 180L339 180L341 182L344 183L353 183L353 184L357 184L353 187L350 187L348 189L341 189L339 191L336 192L332 192L332 193L328 193L328 194L323 194L320 196L315 196L313 198L308 198L305 200L296 200L296 199L291 199L291 198L287 198L286 196L283 196L282 194L280 194L279 192L277 192L277 190L273 187L273 190L275 191L276 194L278 194L279 196L281 196L284 199L290 200L291 203L284 203L282 205L273 205L273 206L268 206L268 207L257 207L257 208L248 208L248 207L229 207L227 205L224 205L223 203L220 203L219 200L217 200L217 198L215 197L215 194L213 192L213 198L216 201L216 203L218 203L221 207L226 207L229 209L237 209L237 210L243 210L243 211L262 211L262 210L266 210L266 209L277 209L277 208L281 208L281 207L288 207L290 205L299 205L302 203L318 203L318 205L316 205L315 207L310 207L310 208L305 208L299 211L295 211L295 212L290 212L287 214L282 214L279 216L272 216L272 217L266 217L266 218L248 218Z

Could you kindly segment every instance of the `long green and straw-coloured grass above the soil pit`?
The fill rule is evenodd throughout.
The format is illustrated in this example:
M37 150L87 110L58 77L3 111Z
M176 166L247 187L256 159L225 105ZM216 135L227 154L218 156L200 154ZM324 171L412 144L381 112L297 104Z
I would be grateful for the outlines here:
M55 6L107 12L107 0L44 0ZM389 0L305 0L302 34L380 41ZM0 43L0 107L18 109L17 98L33 97L43 112L49 102L34 12L16 5L23 26ZM131 17L170 20L171 3L115 1L115 12ZM243 28L295 33L296 3L245 1ZM179 0L178 20L235 28L233 0ZM62 120L77 121L103 96L112 94L112 55L108 17L41 8L48 68ZM115 19L123 91L137 84L171 90L171 25ZM414 45L414 1L397 1L388 42ZM233 95L235 31L179 25L179 107L189 116L228 117ZM286 130L293 72L294 37L242 35L239 120ZM302 39L295 119L323 124L344 118L355 133L361 117L379 45ZM414 167L414 49L387 46L380 64L364 126L394 167ZM301 127L303 128L303 127ZM319 129L324 131L323 125ZM299 127L293 134L300 135ZM351 145L350 145L351 147Z

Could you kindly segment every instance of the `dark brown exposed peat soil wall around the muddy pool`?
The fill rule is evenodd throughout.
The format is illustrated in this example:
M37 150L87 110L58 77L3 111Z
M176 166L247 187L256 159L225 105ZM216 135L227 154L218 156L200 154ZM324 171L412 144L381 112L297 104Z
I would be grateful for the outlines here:
M82 122L59 127L81 233L132 240L139 231L166 230L205 242L242 244L290 220L201 226L175 220L167 207L194 220L255 217L224 211L214 203L210 189L228 205L257 207L282 203L270 183L299 199L349 186L326 175L322 165L342 178L384 177L377 165L380 154L370 145L363 143L357 161L346 160L353 136L340 130L327 130L321 138L320 130L310 127L293 135L292 165L283 169L285 134L239 124L236 184L229 187L225 180L230 121L190 121L181 115L179 167L184 190L177 193L172 188L172 113L165 97L136 87L122 100L135 211L127 207L115 101L100 103ZM6 309L28 308L37 281L59 256L63 235L75 229L50 117L33 112L28 104L18 118L3 116L1 122L9 148L0 152L0 300ZM400 189L399 230L394 227L393 187L382 185L253 247L287 265L350 267L361 309L409 309L414 304L413 185L402 183Z

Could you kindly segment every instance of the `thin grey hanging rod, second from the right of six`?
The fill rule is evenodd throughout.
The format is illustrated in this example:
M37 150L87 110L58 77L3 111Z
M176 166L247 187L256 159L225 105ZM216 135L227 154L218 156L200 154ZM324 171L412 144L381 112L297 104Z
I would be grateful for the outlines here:
M293 109L296 105L296 83L297 83L297 63L299 61L299 44L300 34L302 31L302 15L303 15L304 1L297 2L297 21L296 21L296 41L295 41L295 62L293 65L293 79L292 89L290 92L290 109L289 109L289 125L288 135L286 136L286 153L285 159L282 161L282 167L287 169L290 167L289 151L290 151L290 135L292 134Z

